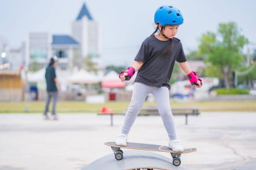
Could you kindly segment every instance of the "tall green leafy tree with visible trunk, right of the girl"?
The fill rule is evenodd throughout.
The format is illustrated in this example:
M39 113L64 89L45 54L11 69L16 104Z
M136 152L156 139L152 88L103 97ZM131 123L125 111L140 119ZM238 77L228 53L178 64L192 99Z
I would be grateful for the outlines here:
M201 36L199 51L206 54L204 61L210 63L210 67L220 70L226 89L230 89L232 71L245 60L242 50L247 43L247 38L241 35L234 22L219 24L216 34L207 32Z

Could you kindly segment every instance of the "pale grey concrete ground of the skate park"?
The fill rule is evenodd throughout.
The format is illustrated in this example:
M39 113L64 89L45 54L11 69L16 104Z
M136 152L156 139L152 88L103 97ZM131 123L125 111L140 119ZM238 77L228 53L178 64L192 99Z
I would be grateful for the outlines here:
M115 140L124 116L60 114L58 121L41 114L0 114L0 170L78 170L113 153L104 142ZM197 152L182 155L180 168L255 169L256 113L201 113L174 116L179 139ZM139 116L130 142L168 143L158 116ZM123 150L125 151L125 149ZM158 153L170 157L168 153ZM114 155L113 155L114 157Z

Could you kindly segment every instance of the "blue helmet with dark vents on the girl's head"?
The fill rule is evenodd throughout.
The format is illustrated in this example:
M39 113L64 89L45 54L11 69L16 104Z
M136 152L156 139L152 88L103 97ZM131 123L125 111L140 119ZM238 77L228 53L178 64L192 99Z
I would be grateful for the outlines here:
M175 26L183 24L183 15L176 7L164 5L156 9L155 24Z

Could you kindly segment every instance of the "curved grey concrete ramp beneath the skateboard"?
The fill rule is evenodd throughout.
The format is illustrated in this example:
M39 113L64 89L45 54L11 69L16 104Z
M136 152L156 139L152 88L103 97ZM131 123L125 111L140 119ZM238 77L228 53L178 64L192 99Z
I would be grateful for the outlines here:
M168 154L167 154L168 155ZM169 155L170 156L170 155ZM114 153L106 155L90 163L81 170L131 170L131 169L186 169L183 165L175 167L172 165L171 156L164 157L150 151L125 151L123 159L117 161Z

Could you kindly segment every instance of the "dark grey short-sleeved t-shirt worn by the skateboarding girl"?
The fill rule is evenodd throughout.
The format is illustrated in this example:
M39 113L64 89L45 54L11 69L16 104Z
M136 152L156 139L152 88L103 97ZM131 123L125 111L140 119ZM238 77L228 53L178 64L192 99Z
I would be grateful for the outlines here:
M170 46L173 41L174 48L168 56L163 57L162 51L166 46ZM137 73L135 82L144 83L153 87L168 87L170 89L170 77L175 60L177 62L187 61L181 41L177 38L161 41L154 35L149 36L141 44L141 48L134 60L143 62Z

